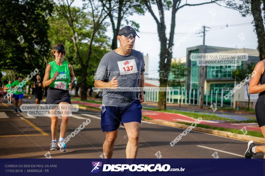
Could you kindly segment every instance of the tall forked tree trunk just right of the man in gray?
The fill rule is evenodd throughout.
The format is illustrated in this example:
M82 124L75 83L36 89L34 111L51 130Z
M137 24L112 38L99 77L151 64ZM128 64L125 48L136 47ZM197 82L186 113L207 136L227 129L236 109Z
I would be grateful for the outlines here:
M170 71L171 59L172 59L172 51L173 51L173 42L174 42L174 31L176 24L176 12L179 9L182 9L186 6L198 6L203 4L210 4L220 0L211 0L208 2L198 3L198 4L188 4L187 1L185 4L181 4L182 0L144 0L145 5L153 16L155 22L157 23L157 32L160 40L160 62L159 62L159 70L168 73ZM155 4L158 8L159 18L155 15L154 10L151 5ZM170 34L169 38L166 36L166 24L164 19L164 11L171 9L171 23L170 23ZM166 87L168 81L168 75L166 75L166 79L159 79L160 87ZM159 92L158 94L158 108L166 109L166 93Z

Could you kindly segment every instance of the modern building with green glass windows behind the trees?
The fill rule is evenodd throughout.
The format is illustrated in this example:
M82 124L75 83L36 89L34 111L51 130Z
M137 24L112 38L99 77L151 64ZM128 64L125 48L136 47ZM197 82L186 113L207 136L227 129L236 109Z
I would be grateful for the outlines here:
M192 53L203 53L203 46L194 46L187 48L186 52L186 63L185 67L188 68L186 79L182 80L182 84L185 91L187 91L187 97L185 97L188 102L194 102L194 104L198 104L198 88L199 88L199 79L201 74L200 66L197 65L197 61L191 61L190 55ZM235 48L225 48L225 47L217 47L217 46L205 46L205 53L247 53L248 60L242 61L240 66L237 68L246 68L248 64L253 62L256 64L260 61L258 57L259 53L256 49L235 49ZM245 93L243 88L242 90L238 91L241 93L238 97L238 94L234 94L234 97L230 97L228 100L224 100L221 96L225 95L227 92L232 90L235 87L235 80L232 78L232 71L236 68L235 65L228 65L228 66L205 66L205 73L204 73L204 104L210 105L211 103L217 103L217 106L221 104L222 106L233 106L236 104L237 101L246 101ZM237 82L238 84L238 82ZM195 96L193 95L193 91L195 90ZM222 91L223 90L223 91ZM184 91L184 90L183 90ZM243 92L242 92L243 91ZM191 92L191 93L189 93ZM223 92L223 93L222 93ZM198 94L197 94L198 93ZM189 96L191 94L191 96ZM252 96L252 102L256 101L257 96ZM189 98L192 99L189 101ZM232 98L232 99L231 99ZM244 98L244 99L243 99ZM195 99L195 100L193 100ZM207 103L206 103L207 102ZM192 103L190 103L192 104Z

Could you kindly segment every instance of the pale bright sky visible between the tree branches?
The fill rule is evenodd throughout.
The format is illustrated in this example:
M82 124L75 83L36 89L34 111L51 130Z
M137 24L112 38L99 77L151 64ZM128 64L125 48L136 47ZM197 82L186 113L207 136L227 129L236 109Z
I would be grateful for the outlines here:
M207 0L187 0L189 4L206 2ZM210 0L208 0L210 1ZM81 7L82 0L76 0L73 5ZM156 6L152 6L153 11L159 18L159 13ZM151 14L146 11L145 15L134 14L126 16L129 20L134 20L139 23L140 28L137 34L140 38L136 38L135 49L149 55L149 71L156 72L159 66L160 42L157 34L157 24ZM167 35L171 24L171 12L165 11L165 23L167 26ZM109 21L108 19L106 21ZM205 36L205 45L220 46L230 48L250 48L257 49L257 36L254 33L254 26L251 24L252 16L242 17L240 13L233 9L220 7L217 4L204 4L200 6L186 6L178 10L176 13L175 22L175 37L174 43L181 39L185 34L196 25L205 25L210 27L207 29ZM242 24L237 26L236 24ZM228 27L226 28L226 24ZM123 23L121 27L126 24ZM223 27L223 28L222 28ZM202 28L201 28L202 29ZM201 30L199 30L201 31ZM199 32L198 31L198 32ZM107 35L112 38L111 26L108 27ZM191 37L181 42L180 45L173 50L173 58L185 57L186 48L202 45L203 37L201 34L192 34ZM111 41L110 41L111 43ZM147 69L146 69L147 70Z

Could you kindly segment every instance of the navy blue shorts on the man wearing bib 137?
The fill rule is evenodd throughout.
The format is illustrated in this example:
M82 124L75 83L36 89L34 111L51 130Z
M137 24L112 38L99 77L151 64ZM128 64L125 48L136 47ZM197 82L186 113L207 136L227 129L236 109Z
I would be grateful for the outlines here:
M142 119L142 105L139 100L133 101L125 107L102 106L101 129L102 131L115 131L120 123L139 122Z

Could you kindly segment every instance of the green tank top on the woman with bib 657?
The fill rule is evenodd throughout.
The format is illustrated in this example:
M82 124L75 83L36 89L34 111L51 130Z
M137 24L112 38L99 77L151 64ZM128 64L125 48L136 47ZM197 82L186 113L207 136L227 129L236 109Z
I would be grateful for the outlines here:
M70 82L70 71L67 61L63 61L61 66L57 65L55 60L49 62L51 65L50 79L53 78L56 71L59 72L59 76L51 83L50 87L67 90Z

